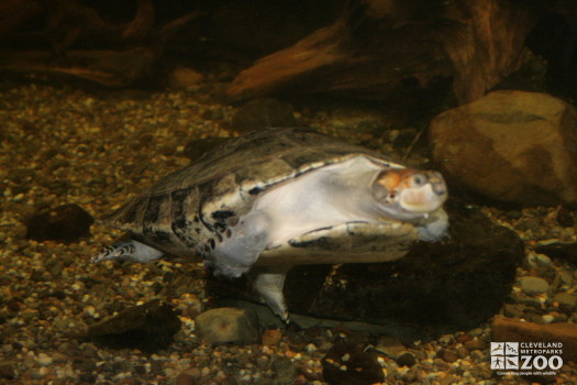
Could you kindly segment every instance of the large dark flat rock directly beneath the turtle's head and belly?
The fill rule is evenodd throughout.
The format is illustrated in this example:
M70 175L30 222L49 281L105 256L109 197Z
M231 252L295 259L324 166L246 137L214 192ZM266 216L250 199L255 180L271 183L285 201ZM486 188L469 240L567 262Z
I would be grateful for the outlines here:
M477 209L450 201L447 211L446 241L419 243L396 262L293 267L285 286L289 311L407 327L415 338L478 326L510 293L523 242ZM218 299L246 298L244 287L208 282Z

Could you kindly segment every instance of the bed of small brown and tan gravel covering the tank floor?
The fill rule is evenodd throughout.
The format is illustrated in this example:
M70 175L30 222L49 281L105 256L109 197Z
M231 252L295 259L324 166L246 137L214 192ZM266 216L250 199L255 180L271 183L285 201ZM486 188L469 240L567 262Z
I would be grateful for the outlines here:
M91 255L120 233L92 226L91 237L69 244L24 238L25 218L76 204L98 218L160 176L189 163L186 144L230 136L234 109L213 102L210 86L162 92L90 92L45 84L0 86L0 383L2 384L323 384L322 359L339 339L362 340L379 354L386 384L517 384L489 369L490 327L479 326L431 342L415 341L410 364L379 350L379 337L337 330L281 331L270 344L207 346L193 318L209 300L202 282L171 299L182 329L168 349L145 354L77 339L87 326L123 307L159 297L177 271L202 275L200 265L158 262L92 265ZM313 127L331 130L326 113ZM540 323L577 322L575 309L555 300L575 294L577 270L536 254L539 244L575 242L574 226L558 224L559 208L500 211L497 223L517 231L528 257L502 312L522 307ZM526 289L523 277L547 283ZM525 285L525 286L523 286ZM577 383L566 364L557 383Z

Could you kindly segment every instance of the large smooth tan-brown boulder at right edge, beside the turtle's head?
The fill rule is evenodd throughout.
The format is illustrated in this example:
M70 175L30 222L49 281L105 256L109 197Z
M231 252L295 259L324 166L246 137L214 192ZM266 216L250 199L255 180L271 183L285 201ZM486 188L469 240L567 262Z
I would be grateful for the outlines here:
M545 94L493 91L433 119L434 160L488 197L577 202L577 112Z

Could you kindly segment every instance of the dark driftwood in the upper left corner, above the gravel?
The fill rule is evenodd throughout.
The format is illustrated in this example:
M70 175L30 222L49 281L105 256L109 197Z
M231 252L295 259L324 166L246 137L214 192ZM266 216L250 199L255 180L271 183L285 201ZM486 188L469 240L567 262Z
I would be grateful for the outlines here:
M3 15L3 16L2 16ZM75 0L0 0L0 68L65 76L104 87L126 87L155 75L164 43L190 20L192 12L153 30L152 0L137 0L134 18L112 23ZM45 26L27 26L42 18ZM40 46L36 50L21 50Z

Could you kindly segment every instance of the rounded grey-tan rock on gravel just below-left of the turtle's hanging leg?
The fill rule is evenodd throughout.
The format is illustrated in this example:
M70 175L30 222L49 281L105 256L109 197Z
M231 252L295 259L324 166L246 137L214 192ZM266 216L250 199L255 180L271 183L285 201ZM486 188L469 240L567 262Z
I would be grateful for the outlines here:
M260 340L258 319L248 309L218 308L195 319L198 337L208 344L249 344Z

